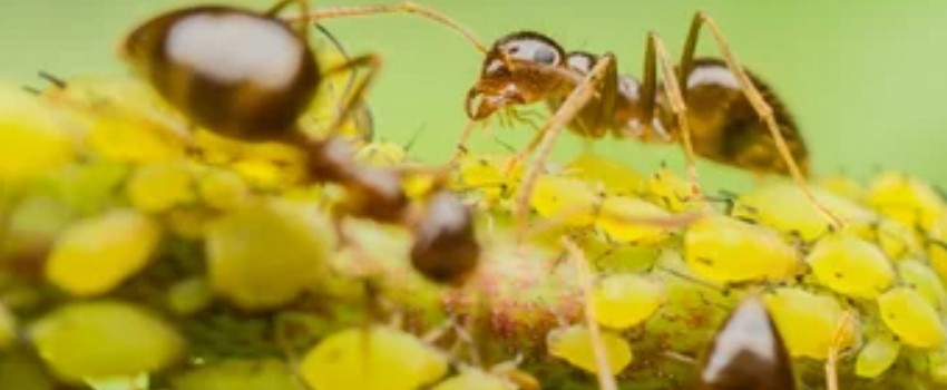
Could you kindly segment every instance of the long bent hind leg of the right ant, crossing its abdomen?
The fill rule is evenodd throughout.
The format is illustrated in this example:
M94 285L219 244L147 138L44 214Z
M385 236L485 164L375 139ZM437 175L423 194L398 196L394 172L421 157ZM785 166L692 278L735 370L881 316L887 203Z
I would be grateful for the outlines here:
M736 62L736 57L733 55L733 51L730 50L730 45L726 42L726 39L723 37L723 32L721 32L720 28L716 26L716 22L711 19L704 12L699 11L694 14L694 19L691 21L691 29L687 32L687 41L684 43L684 52L681 57L681 65L677 72L677 82L684 82L684 78L687 77L687 74L691 71L691 67L694 61L694 52L697 48L697 38L701 32L701 27L705 26L713 36L716 41L717 49L723 56L724 62L726 62L726 67L730 68L730 71L736 77L736 81L740 82L740 89L743 90L743 95L750 101L750 105L753 106L753 110L756 111L756 115L767 124L767 128L770 130L770 135L773 137L775 142L777 149L779 150L782 159L785 162L789 167L790 175L799 188L806 194L806 197L809 198L809 202L812 203L812 206L816 207L829 223L832 224L832 227L839 228L845 226L845 222L834 215L831 211L826 208L822 203L820 203L812 192L809 189L809 185L806 182L806 175L799 168L799 165L795 163L795 159L792 157L792 154L789 150L789 146L785 143L785 139L780 133L779 124L777 124L775 117L773 116L773 109L770 105L767 104L763 96L756 90L756 87L753 85L753 81L750 80L750 77Z

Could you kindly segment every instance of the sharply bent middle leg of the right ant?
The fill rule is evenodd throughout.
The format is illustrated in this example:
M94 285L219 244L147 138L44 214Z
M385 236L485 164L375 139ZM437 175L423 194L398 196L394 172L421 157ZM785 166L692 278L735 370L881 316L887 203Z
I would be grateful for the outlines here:
M687 179L691 182L691 195L696 198L701 197L701 185L697 179L696 155L694 154L694 144L691 140L691 126L687 121L687 106L684 103L684 96L681 91L681 84L675 77L674 66L671 64L671 57L667 55L667 49L664 42L657 37L657 33L651 31L647 33L647 43L645 45L644 59L644 82L642 84L642 104L644 118L643 123L651 126L654 118L654 110L657 103L657 66L661 67L661 74L664 78L661 80L664 92L667 96L667 101L671 105L671 110L677 120L677 128L681 131L681 140L684 144L684 157L687 164Z

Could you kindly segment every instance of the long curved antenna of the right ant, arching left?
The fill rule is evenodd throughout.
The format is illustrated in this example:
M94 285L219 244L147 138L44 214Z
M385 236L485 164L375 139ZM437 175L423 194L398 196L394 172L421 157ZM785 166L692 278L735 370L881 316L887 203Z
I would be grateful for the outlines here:
M440 11L420 4L416 4L410 1L402 1L391 4L328 7L316 9L315 11L307 12L302 16L287 17L286 20L320 21L334 18L367 17L380 13L409 13L431 19L459 32L461 36L463 36L463 38L473 43L473 46L477 47L477 50L479 50L480 52L487 52L487 46L484 45L479 39L477 39L477 36L475 36L473 32L471 32L468 28L460 25L460 22L453 20L447 14L443 14Z

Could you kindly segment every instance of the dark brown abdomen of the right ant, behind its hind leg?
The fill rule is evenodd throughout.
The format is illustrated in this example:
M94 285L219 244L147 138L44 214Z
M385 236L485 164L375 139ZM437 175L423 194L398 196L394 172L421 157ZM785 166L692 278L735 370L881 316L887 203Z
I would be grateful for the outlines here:
M807 174L809 154L785 105L762 80L752 72L748 71L748 75L772 107L782 137L800 169ZM790 174L765 123L753 110L726 64L715 58L695 59L682 89L685 90L687 119L697 155L760 174ZM673 123L673 114L663 97L660 101L662 121ZM674 127L674 133L677 133ZM680 135L675 137L680 138Z

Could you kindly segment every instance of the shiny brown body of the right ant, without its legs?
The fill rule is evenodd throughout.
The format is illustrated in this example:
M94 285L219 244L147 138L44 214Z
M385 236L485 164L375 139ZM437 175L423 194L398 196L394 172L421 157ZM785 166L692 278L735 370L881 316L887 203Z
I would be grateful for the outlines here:
M537 101L545 101L555 111L598 60L598 56L587 52L566 52L537 32L520 31L504 37L487 53L480 78L470 89L468 116L484 119L499 109ZM743 169L788 175L789 167L779 158L767 125L753 110L726 64L697 58L686 68L682 94L694 152ZM773 108L793 158L803 173L808 172L804 140L784 105L759 78L748 75ZM643 142L675 143L682 137L665 92L654 86L643 88L632 75L611 78L606 75L598 96L569 121L569 129L589 138L612 134Z

